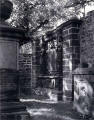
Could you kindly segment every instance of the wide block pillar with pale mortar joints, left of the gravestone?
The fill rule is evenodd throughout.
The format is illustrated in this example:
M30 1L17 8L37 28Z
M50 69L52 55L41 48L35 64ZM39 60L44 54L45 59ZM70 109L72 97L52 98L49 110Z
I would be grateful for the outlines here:
M63 24L63 93L68 101L72 99L72 71L80 63L80 25L78 19Z

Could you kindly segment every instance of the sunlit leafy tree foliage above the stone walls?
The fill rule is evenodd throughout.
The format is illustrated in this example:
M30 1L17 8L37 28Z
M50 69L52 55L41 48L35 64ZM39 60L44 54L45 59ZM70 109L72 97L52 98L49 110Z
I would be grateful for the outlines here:
M58 21L65 21L73 16L72 10L64 6L66 0L12 0L14 11L10 22L33 32L39 28L45 31L57 26Z

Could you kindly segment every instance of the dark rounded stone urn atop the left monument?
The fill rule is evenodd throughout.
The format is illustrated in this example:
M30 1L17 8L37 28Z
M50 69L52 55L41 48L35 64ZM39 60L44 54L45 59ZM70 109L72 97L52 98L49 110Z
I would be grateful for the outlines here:
M0 20L6 20L10 17L13 4L9 0L0 1Z

